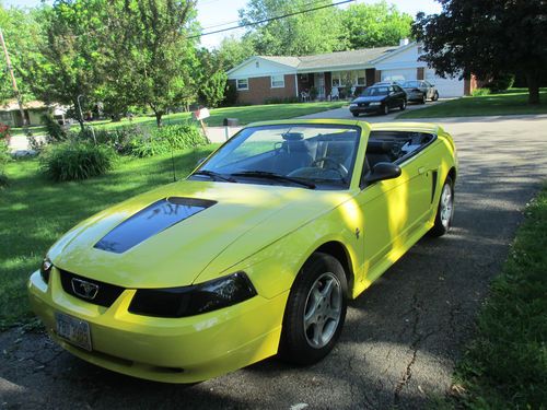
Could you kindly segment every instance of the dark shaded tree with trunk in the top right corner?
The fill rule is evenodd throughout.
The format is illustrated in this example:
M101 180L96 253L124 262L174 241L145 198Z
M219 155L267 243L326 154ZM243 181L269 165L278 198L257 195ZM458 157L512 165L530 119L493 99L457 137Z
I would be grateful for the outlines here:
M523 72L528 103L539 104L539 79L547 70L545 0L438 0L440 14L419 13L412 33L423 43L423 60L440 75L497 78Z

